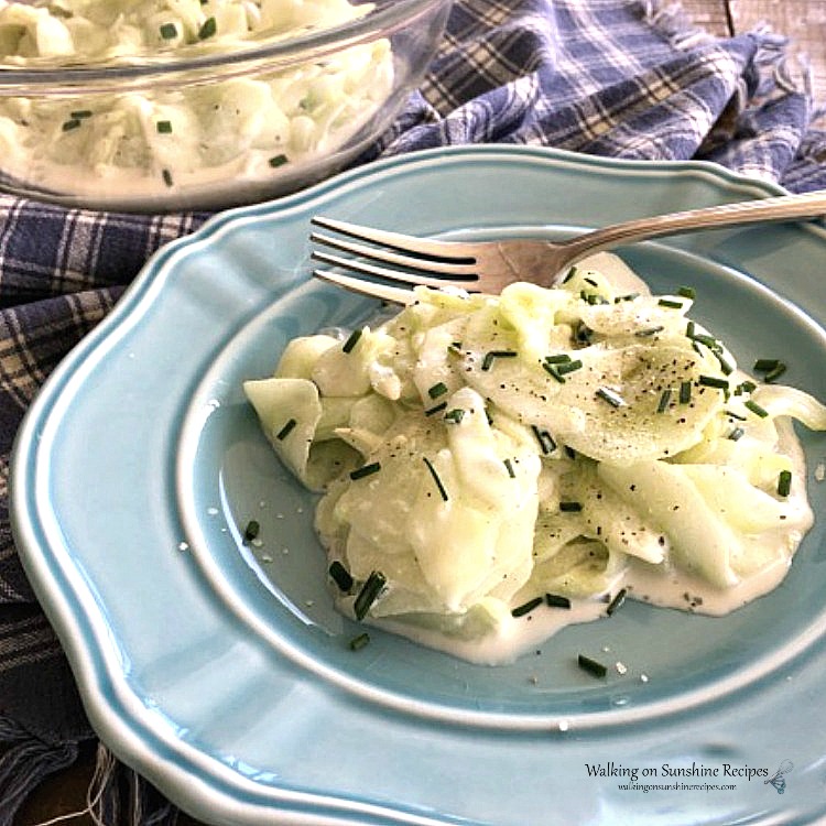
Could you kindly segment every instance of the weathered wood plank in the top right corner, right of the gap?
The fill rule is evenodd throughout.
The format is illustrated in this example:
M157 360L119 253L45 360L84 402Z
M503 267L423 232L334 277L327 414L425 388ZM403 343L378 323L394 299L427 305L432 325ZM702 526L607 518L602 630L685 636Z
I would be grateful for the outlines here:
M815 99L826 104L826 3L823 0L728 0L736 33L761 23L790 37L790 53L811 63Z

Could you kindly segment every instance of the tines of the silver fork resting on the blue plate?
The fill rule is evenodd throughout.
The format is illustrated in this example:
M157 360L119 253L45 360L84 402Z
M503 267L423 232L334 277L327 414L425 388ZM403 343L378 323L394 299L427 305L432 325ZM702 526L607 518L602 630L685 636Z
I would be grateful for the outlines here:
M414 238L318 216L312 219L312 224L337 235L311 232L311 241L349 254L341 257L314 250L313 258L323 263L371 279L432 287L466 289L478 281L475 259L466 252L457 254L449 241ZM336 276L336 273L322 271L317 274L327 280Z

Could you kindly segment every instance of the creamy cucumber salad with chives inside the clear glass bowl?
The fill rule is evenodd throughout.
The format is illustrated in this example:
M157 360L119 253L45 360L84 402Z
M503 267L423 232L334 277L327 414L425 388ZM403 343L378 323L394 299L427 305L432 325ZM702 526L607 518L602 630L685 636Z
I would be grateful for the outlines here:
M249 47L362 17L348 0L0 0L0 64L141 63ZM275 181L320 163L393 85L385 39L209 84L0 98L3 172L46 189L123 197Z

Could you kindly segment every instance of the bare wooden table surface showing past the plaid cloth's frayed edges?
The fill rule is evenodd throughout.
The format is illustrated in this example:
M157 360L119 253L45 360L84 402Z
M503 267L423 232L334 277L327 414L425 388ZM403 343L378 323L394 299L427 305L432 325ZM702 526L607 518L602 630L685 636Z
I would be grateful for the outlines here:
M791 54L812 67L815 97L826 104L826 2L824 0L683 0L692 20L709 33L727 36L768 24L791 39ZM83 752L75 767L48 779L29 801L14 826L35 826L80 812L95 769L95 751ZM198 826L182 815L180 826ZM62 819L63 826L94 826L88 815ZM107 824L118 826L118 824Z

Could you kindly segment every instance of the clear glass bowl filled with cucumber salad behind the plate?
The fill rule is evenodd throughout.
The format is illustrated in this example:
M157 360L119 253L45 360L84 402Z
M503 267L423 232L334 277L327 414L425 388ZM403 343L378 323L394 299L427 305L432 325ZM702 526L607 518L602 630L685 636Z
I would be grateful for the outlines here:
M339 171L391 122L450 0L52 0L0 8L0 191L220 209Z

